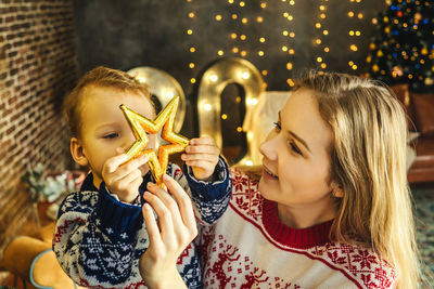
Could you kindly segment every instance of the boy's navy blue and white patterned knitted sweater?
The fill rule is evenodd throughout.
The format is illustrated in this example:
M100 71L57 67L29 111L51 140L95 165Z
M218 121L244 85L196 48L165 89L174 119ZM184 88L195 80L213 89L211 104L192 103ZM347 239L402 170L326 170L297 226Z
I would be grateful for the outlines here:
M231 182L226 162L220 158L214 183L197 181L190 168L187 178L176 165L167 166L171 175L194 200L196 218L213 223L228 207ZM139 188L140 196L146 174ZM190 187L189 187L190 185ZM190 191L191 188L191 191ZM66 274L88 288L146 288L139 273L139 259L149 246L141 206L118 201L104 183L93 185L90 173L80 192L68 195L61 205L53 250ZM202 274L195 245L190 244L178 259L178 271L189 288L202 288Z

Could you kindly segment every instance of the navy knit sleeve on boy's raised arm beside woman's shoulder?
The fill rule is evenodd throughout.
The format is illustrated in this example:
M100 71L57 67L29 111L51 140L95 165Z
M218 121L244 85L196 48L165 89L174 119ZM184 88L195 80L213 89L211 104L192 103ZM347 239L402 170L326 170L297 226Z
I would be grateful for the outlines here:
M192 169L184 165L186 178L191 189L196 218L205 224L213 224L226 211L232 192L228 165L220 156L213 175L213 182L199 181Z

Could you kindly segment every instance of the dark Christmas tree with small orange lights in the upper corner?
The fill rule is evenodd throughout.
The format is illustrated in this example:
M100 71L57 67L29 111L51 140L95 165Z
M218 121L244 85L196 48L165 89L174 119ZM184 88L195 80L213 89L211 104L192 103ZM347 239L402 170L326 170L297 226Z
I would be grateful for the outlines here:
M388 0L373 24L378 34L367 57L369 76L434 93L434 1Z

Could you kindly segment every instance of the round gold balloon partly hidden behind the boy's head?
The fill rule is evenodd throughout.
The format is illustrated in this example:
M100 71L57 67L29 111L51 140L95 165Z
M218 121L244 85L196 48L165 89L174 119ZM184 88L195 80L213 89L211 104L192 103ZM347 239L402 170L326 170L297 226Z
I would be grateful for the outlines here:
M174 96L179 96L180 105L174 126L175 131L179 132L186 117L186 95L179 82L166 71L149 66L132 68L127 74L146 83L151 94L158 98L162 107L165 107Z

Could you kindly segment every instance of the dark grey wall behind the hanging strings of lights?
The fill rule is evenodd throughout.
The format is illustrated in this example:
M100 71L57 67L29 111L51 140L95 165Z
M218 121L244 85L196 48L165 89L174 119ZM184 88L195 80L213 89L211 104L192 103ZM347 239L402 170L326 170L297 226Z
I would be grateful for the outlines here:
M199 78L201 69L212 61L240 57L241 51L245 51L244 58L259 70L268 71L264 76L267 90L289 90L286 80L297 71L319 68L318 56L327 64L326 70L367 71L363 63L374 32L371 19L385 9L385 1L378 0L296 0L293 5L290 0L244 2L241 6L240 0L75 0L80 71L84 74L97 65L124 70L157 67L180 82L191 105L194 102L191 78ZM267 6L263 9L261 3ZM323 19L320 4L326 8ZM349 17L349 11L355 16ZM193 18L189 17L190 12L195 14ZM284 12L293 19L285 18ZM361 19L358 13L363 14ZM238 18L233 19L232 14ZM220 22L216 15L221 15ZM243 17L247 24L242 23ZM263 17L263 22L257 17ZM315 26L318 22L321 29ZM189 28L193 29L192 35L187 34ZM324 29L327 36L322 34ZM359 30L361 36L350 37L352 29ZM283 30L293 31L295 37L283 36ZM232 32L237 39L231 39ZM240 39L240 35L246 39ZM314 43L318 36L322 40L319 45ZM265 37L264 43L260 37ZM352 43L358 47L356 52L349 50ZM294 54L282 51L283 45L293 49ZM191 47L195 48L194 53L189 51ZM329 53L323 52L324 47L330 48ZM239 51L233 53L233 48ZM224 51L222 56L217 54L219 50ZM264 56L258 55L259 50ZM356 70L348 65L350 61L358 65ZM292 70L286 69L289 62L293 64ZM189 68L189 63L195 67ZM191 128L187 131L190 133Z

